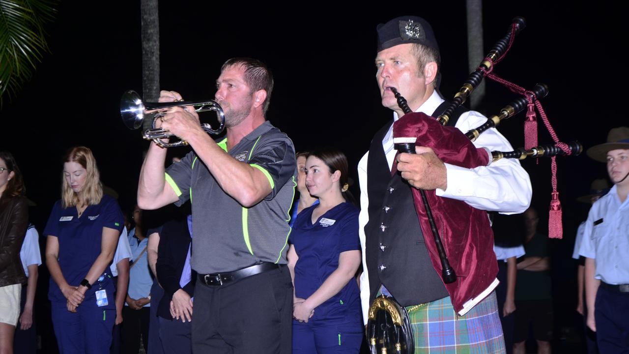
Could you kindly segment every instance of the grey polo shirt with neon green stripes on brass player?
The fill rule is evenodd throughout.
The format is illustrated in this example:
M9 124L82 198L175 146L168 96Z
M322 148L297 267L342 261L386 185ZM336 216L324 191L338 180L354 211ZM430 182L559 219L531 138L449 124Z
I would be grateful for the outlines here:
M227 151L227 138L217 144ZM271 193L253 207L245 208L226 194L194 151L166 171L166 181L179 197L175 204L192 202L192 268L205 274L260 261L286 264L288 213L297 176L291 139L267 121L228 153L269 179Z

